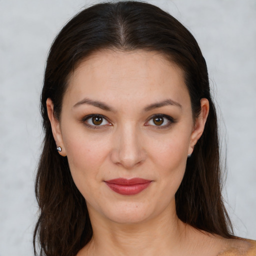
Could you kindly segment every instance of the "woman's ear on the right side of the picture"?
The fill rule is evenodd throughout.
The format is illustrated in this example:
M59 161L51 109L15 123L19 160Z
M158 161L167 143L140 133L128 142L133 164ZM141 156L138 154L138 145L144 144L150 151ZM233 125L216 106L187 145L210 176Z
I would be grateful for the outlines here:
M190 147L188 149L188 154L193 152L193 147L196 144L197 140L202 135L204 130L204 125L209 113L209 101L206 98L201 98L201 111L199 116L195 119L194 127L190 136Z

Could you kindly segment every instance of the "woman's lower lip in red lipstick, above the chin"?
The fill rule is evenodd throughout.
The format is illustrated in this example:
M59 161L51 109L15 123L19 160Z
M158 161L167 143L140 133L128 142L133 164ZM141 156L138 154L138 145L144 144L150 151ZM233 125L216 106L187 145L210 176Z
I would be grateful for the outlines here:
M118 194L123 195L132 195L132 194L138 194L145 188L147 188L151 181L148 181L146 183L142 184L133 184L133 185L120 185L120 184L114 184L114 183L108 183L105 182L109 188L111 188L113 191L115 191Z

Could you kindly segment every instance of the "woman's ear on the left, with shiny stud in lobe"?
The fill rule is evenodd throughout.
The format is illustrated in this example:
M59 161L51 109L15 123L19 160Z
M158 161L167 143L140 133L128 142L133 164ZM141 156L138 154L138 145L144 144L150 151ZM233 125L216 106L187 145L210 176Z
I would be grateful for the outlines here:
M52 134L56 143L56 147L58 146L61 147L61 151L58 151L58 153L62 156L66 156L66 151L65 151L65 147L62 139L59 121L54 116L54 107L50 98L47 98L46 100L46 107L47 107L48 117L50 120Z

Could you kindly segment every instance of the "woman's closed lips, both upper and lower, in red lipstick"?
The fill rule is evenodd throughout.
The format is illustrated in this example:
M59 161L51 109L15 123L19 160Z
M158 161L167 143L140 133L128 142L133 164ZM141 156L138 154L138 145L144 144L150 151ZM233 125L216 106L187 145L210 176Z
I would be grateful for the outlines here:
M151 180L143 178L116 178L105 181L109 188L123 195L137 194L147 188L150 182Z

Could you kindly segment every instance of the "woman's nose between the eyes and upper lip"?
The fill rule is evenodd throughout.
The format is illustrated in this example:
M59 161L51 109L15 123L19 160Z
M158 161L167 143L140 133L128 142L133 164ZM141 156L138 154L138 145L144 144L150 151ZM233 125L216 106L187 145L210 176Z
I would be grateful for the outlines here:
M141 134L135 125L123 125L114 133L111 151L113 163L131 169L145 160L146 151L142 145Z

